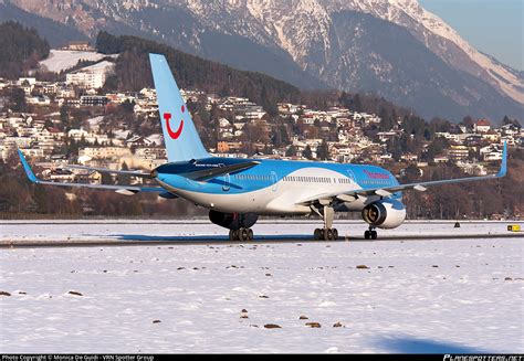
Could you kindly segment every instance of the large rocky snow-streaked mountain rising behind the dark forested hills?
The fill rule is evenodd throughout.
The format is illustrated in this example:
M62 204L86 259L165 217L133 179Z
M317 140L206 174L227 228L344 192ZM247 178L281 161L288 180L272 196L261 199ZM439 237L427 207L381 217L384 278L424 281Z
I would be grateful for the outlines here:
M0 0L0 3L10 3ZM168 43L301 88L373 92L420 115L522 119L522 72L416 0L18 0L39 17Z

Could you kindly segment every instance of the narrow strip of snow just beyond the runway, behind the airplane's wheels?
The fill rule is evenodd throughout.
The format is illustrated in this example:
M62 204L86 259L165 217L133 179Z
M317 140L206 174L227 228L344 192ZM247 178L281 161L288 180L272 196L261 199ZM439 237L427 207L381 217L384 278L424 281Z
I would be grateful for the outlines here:
M451 221L408 221L395 230L377 230L381 238L398 237L450 237L486 235L514 235L507 232L509 224L518 222L461 222L460 229ZM253 226L255 238L307 238L322 221L262 220ZM335 221L340 237L363 238L367 224L363 221ZM522 229L524 224L521 222ZM524 233L523 237L524 237ZM0 244L8 242L96 242L96 241L187 241L224 240L228 231L209 220L195 221L0 221Z

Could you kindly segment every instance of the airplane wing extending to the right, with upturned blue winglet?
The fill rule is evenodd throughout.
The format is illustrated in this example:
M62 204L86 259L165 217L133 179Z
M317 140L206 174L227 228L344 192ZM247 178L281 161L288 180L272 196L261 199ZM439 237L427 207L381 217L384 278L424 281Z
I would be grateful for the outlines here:
M321 201L322 203L322 201L324 200L333 200L333 199L337 199L339 201L352 201L358 198L358 195L364 195L364 197L379 195L384 198L389 198L396 192L401 192L401 191L407 191L407 190L412 190L412 189L415 189L416 191L423 192L428 189L428 187L433 187L433 185L453 184L453 183L502 178L506 174L506 172L507 172L507 145L504 142L504 148L502 150L502 164L496 174L489 174L489 176L482 176L482 177L467 177L467 178L458 178L458 179L444 179L444 180L427 181L427 182L415 182L415 183L406 183L406 184L398 184L394 187L382 187L382 188L374 188L374 189L356 189L356 190L343 192L343 193L331 193L331 194L324 193L317 197L311 197L297 203L307 204L307 203L317 202L317 201Z

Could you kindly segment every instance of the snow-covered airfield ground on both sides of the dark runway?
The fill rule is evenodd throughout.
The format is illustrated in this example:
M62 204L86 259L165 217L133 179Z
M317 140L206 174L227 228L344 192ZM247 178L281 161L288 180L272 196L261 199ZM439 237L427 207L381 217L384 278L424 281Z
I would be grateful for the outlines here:
M211 230L66 223L0 233ZM524 352L522 237L0 249L0 353Z

